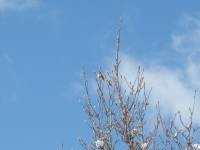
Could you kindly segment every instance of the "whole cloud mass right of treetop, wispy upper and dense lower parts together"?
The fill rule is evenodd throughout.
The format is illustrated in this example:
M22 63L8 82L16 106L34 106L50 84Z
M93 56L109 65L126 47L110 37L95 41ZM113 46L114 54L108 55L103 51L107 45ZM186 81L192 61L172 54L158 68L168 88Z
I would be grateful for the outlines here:
M188 116L188 109L194 101L195 90L200 88L200 60L198 60L200 56L200 18L184 15L181 19L181 29L171 35L172 49L184 60L181 66L166 67L152 61L146 64L128 54L123 54L121 72L129 80L134 80L138 65L143 66L147 85L153 89L151 93L153 102L159 101L165 113L181 111L183 116ZM196 123L200 123L199 98L197 96L195 105L194 120Z

